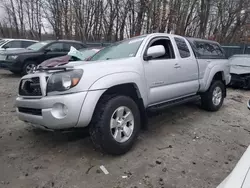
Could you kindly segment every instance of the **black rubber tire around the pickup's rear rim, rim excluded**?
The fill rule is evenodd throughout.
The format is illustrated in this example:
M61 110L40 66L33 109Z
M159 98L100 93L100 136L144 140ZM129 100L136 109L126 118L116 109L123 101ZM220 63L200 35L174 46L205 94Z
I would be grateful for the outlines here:
M218 105L215 105L213 103L213 92L217 87L221 89L222 96L221 96L220 103ZM201 107L211 112L218 111L223 104L223 101L225 98L225 92L226 92L226 87L222 81L220 80L213 81L209 89L205 93L201 94Z

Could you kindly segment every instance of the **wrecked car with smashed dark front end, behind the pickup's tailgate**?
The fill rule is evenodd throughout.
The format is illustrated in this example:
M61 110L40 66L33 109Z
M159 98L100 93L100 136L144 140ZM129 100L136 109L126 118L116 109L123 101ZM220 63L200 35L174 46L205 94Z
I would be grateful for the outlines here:
M235 88L250 89L250 55L234 55L229 59L230 85Z

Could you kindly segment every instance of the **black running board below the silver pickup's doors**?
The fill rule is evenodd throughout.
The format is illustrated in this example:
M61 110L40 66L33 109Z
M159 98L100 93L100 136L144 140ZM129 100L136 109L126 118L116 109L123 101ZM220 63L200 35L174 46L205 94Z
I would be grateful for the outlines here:
M172 107L172 106L177 106L177 105L180 105L180 104L184 104L184 103L191 102L191 101L197 101L197 100L200 100L200 95L193 95L191 97L184 97L184 98L181 98L181 99L176 99L176 100L173 100L173 101L169 101L169 102L157 104L157 105L154 105L154 106L150 106L148 108L148 110L149 111L161 110L161 109L165 109L165 108L169 108L169 107Z

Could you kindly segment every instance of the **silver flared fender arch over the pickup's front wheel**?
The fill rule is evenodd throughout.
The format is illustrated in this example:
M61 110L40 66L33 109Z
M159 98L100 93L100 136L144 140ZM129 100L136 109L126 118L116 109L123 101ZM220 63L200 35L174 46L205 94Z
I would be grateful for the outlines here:
M89 91L95 90L103 90L108 89L113 86L121 85L121 84L128 84L132 83L135 84L139 92L138 94L143 99L144 106L147 105L147 89L145 85L145 81L140 74L136 72L119 72L119 73L112 73L105 75L98 80L96 80L90 87Z

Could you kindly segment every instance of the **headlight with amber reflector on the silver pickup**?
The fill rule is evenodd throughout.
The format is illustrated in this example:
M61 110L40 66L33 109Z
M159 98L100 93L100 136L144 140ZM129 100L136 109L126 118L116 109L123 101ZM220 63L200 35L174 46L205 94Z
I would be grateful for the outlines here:
M47 83L47 93L53 91L67 91L75 87L81 80L82 74L83 71L80 69L52 74Z

